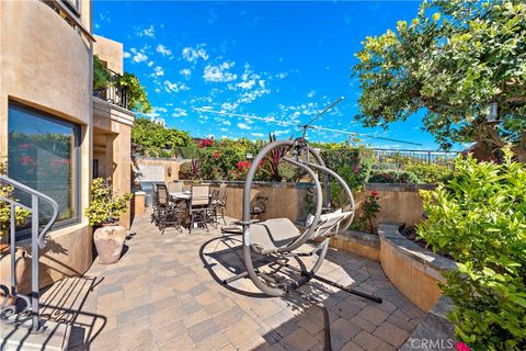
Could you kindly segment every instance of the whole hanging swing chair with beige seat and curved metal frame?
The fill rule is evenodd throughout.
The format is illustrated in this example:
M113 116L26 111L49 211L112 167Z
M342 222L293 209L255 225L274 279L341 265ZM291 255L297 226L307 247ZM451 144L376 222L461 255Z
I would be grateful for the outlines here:
M309 215L306 228L302 231L288 218L273 218L264 222L251 219L250 194L254 174L259 165L273 150L276 150L278 155L281 155L279 162L288 162L304 170L315 182L315 214ZM323 196L320 176L324 184L325 196ZM329 186L330 178L336 180L343 188L348 201L347 210L332 210ZM345 181L336 172L325 167L319 152L309 146L305 137L299 137L294 140L276 140L270 143L258 154L248 171L244 182L242 211L242 219L236 224L241 227L243 261L247 270L225 280L225 284L249 276L262 293L271 296L283 296L291 291L296 291L310 280L318 280L347 293L381 303L381 298L379 297L348 288L317 275L317 271L320 269L328 252L330 238L334 236L336 231L343 231L348 228L354 218L355 204L353 194ZM307 253L298 252L298 249L305 246L307 241L313 244L315 249ZM286 268L298 273L299 278L284 283L283 280L263 272L263 267L254 268L253 256L258 254L267 258L272 262L265 265ZM299 259L300 257L307 256L316 258L310 270L307 270L305 265L301 264L301 269L298 269L288 263L289 259ZM298 274L295 274L295 276L298 276Z

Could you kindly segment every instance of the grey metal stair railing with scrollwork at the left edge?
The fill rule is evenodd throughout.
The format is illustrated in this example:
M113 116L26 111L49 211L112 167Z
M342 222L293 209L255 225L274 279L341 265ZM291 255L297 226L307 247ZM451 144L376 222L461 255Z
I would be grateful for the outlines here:
M31 206L23 205L9 196L1 196L0 202L8 203L10 208L9 237L11 254L11 282L10 287L0 285L3 291L3 301L0 302L0 321L27 326L31 332L39 332L43 328L39 315L39 287L38 287L38 250L45 248L46 233L52 228L58 217L58 204L52 197L37 192L36 190L19 183L5 176L0 176L0 184L12 186L31 195ZM49 222L41 230L38 223L38 204L41 200L49 203L53 207L53 215ZM19 293L16 282L16 207L24 208L31 213L31 295ZM20 308L18 301L25 303ZM19 310L21 309L21 310ZM1 327L1 325L0 325Z

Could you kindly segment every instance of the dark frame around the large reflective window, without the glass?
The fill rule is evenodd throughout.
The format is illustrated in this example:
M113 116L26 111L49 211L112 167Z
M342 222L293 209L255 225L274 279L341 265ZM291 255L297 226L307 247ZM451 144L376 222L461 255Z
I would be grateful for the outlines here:
M71 136L73 137L73 143L72 143L72 151L71 151L71 179L72 179L72 193L73 193L73 199L71 201L71 205L75 206L75 214L71 218L68 219L62 219L60 222L56 222L50 230L56 230L65 227L69 227L72 225L77 225L81 223L82 220L82 174L81 174L81 169L82 169L82 154L81 154L81 140L82 140L82 125L61 118L57 115L54 115L49 112L23 104L18 101L8 101L8 177L9 177L9 144L10 144L10 138L9 138L9 122L11 118L10 111L11 109L18 109L19 111L26 111L28 112L33 117L41 118L47 122L52 122L55 124L59 124L62 126L67 126L71 128ZM24 240L31 237L31 228L24 228L21 230L16 230L16 240Z

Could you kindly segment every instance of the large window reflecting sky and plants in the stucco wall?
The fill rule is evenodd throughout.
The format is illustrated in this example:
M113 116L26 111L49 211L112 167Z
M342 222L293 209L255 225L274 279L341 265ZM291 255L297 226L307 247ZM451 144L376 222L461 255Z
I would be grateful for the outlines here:
M58 225L78 222L80 126L19 103L9 104L9 177L54 199L59 205ZM15 196L24 204L31 197ZM41 202L45 224L52 207Z

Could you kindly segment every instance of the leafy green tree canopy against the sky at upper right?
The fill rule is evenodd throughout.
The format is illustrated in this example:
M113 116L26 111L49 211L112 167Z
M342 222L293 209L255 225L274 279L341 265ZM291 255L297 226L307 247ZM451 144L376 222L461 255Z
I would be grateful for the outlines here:
M521 0L424 1L411 22L369 36L355 55L367 126L424 110L424 129L443 148L514 143L526 159L526 4ZM501 124L489 124L490 103Z

